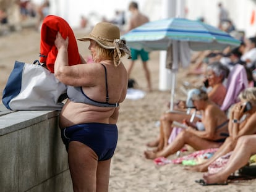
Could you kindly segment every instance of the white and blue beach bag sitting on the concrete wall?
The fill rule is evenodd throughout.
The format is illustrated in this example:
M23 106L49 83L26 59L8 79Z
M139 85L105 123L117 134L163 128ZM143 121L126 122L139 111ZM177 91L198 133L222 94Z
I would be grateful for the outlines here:
M2 93L2 103L11 110L61 110L66 85L36 60L33 64L15 61Z

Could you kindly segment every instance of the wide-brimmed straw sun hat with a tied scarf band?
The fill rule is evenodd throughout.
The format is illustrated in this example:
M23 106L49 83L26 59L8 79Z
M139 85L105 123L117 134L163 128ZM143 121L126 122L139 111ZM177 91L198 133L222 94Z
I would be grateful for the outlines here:
M124 43L120 40L120 30L119 28L108 22L100 22L95 25L91 33L83 38L78 39L79 41L90 41L94 40L102 48L114 49L114 64L120 64L121 51L126 52L130 57L130 50ZM119 59L118 59L119 57Z

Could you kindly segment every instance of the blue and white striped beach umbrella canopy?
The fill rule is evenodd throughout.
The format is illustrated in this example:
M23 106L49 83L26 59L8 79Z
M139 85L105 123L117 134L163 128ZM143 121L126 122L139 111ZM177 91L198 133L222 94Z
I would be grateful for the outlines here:
M167 50L173 41L187 41L190 49L223 50L241 43L228 33L206 23L184 18L171 18L148 22L121 36L127 45L147 51Z

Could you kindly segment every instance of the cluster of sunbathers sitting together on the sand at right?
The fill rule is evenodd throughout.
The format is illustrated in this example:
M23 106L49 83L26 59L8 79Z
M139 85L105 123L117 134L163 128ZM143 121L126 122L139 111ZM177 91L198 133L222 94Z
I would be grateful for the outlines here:
M255 40L245 38L237 48L208 52L204 68L197 74L202 80L190 82L197 86L187 90L187 100L161 115L160 134L147 143L153 149L144 152L147 159L167 158L187 146L194 151L217 148L206 161L186 167L207 172L233 151L220 171L203 174L201 185L226 184L231 173L247 165L256 154Z

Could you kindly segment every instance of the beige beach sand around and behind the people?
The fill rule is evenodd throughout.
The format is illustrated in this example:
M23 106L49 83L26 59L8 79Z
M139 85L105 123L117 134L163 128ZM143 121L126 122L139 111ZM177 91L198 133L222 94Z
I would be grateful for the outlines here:
M85 35L86 31L75 30L77 38ZM88 56L88 44L79 42L82 55ZM39 59L40 32L25 29L19 32L0 36L0 90L6 84L14 61L32 63ZM151 52L148 63L151 71L153 91L144 98L126 99L121 104L119 122L119 140L111 164L111 177L109 191L255 191L256 180L230 183L226 186L201 186L195 180L202 178L202 173L184 170L182 165L155 165L153 161L145 159L143 151L147 149L146 143L158 135L155 126L161 114L166 111L166 102L170 99L169 91L159 91L159 52ZM127 60L123 60L127 64ZM176 98L185 98L179 85L187 78L185 69L177 75ZM139 62L132 71L132 78L138 83L140 90L146 90L146 80L142 64ZM176 158L176 155L169 159ZM56 191L58 192L58 191Z

